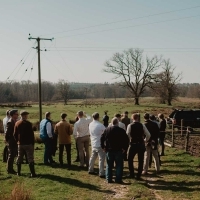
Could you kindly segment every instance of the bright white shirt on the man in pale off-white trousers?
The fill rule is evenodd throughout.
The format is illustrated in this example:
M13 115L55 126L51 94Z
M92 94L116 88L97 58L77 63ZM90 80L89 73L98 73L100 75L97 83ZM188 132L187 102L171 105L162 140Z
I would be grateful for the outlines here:
M89 125L92 148L101 147L100 139L105 130L105 126L97 120L93 120Z

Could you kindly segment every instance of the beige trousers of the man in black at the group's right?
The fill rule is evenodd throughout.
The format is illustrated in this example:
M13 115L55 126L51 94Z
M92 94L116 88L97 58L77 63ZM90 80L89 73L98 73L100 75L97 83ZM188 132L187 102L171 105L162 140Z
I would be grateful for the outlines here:
M155 169L157 172L160 171L160 162L158 157L158 150L152 150L151 146L146 146L146 152L145 152L145 159L144 159L144 171L147 172L149 168L149 159L150 154L152 152L154 163L155 163Z

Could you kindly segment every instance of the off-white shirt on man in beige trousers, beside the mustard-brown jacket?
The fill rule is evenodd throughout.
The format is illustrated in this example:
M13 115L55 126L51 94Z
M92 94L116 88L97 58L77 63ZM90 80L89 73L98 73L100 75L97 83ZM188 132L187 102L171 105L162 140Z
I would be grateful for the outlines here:
M92 121L92 119L88 118L80 118L75 124L74 124L74 131L73 135L76 139L77 137L84 137L86 135L90 135L89 133L89 124Z

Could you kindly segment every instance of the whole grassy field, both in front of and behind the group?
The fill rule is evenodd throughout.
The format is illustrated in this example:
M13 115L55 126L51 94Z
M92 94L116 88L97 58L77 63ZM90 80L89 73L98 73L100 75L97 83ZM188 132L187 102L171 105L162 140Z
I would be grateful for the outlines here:
M185 99L184 99L185 100ZM73 105L63 106L53 104L44 106L43 112L52 112L52 118L59 120L61 112L68 113L68 119L74 119L78 110L84 110L91 114L98 111L103 116L104 110L109 110L109 115L113 116L116 112L149 112L157 114L163 112L165 115L171 112L172 107L159 105L153 99L142 99L141 106L134 106L132 102L125 100L118 102L95 101L95 105L83 106L79 102L71 102ZM98 102L98 105L97 105ZM174 107L198 108L199 101L181 100L174 102ZM32 122L37 121L38 107L33 106L27 109L30 112ZM4 110L0 111L0 118L4 116ZM3 136L0 136L0 152L2 152ZM71 170L66 167L60 168L44 166L43 163L43 144L35 144L39 150L35 151L35 169L38 178L28 178L28 165L22 166L22 176L17 177L6 173L6 164L0 162L0 199L10 196L14 185L23 183L24 188L30 192L34 200L101 200L101 199L199 199L200 193L200 158L192 157L183 151L174 148L166 149L166 156L162 157L161 174L156 176L154 168L150 169L150 175L143 176L142 181L124 178L124 185L107 184L104 179L98 176L88 175L87 171L81 171L78 163L73 163ZM75 145L72 145L72 161L76 158ZM2 161L2 158L0 159ZM58 152L55 160L58 161ZM135 160L135 165L137 161ZM97 169L97 162L96 162ZM15 166L16 169L16 166ZM124 176L128 175L127 162L125 162Z

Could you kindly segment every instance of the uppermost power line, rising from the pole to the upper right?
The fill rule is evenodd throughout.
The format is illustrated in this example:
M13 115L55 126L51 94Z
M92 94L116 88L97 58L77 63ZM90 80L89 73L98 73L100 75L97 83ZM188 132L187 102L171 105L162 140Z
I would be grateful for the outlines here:
M166 12L161 12L161 13L155 13L155 14L145 15L145 16L141 16L141 17L134 17L134 18L130 18L130 19L124 19L124 20L118 20L118 21L113 21L113 22L107 22L107 23L102 23L102 24L97 24L97 25L92 25L92 26L86 26L86 27L82 27L82 28L71 29L71 30L67 30L67 31L55 32L55 33L52 33L52 34L55 35L55 34L67 33L67 32L72 32L72 31L77 31L77 30L88 29L88 28L94 28L94 27L98 27L98 26L105 26L105 25L110 25L110 24L127 22L127 21L136 20L136 19L142 19L142 18L147 18L147 17L153 17L153 16L158 16L158 15L169 14L169 13L173 13L173 12L179 12L179 11L184 11L184 10L195 9L195 8L199 8L199 7L200 6L194 6L194 7L183 8L183 9L178 9L178 10L171 10L171 11L166 11ZM46 34L46 35L50 35L50 34Z

